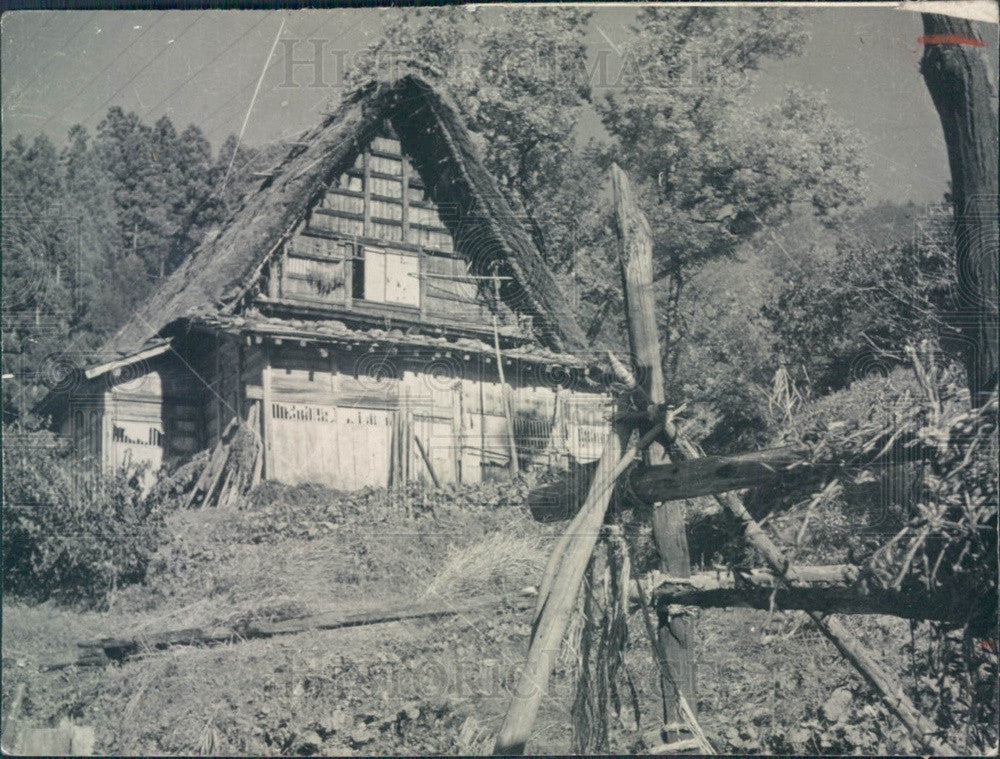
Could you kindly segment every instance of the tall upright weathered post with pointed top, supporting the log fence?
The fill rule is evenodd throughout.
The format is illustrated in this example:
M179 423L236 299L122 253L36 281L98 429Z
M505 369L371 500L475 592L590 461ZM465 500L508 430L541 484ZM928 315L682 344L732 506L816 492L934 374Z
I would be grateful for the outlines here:
M646 400L650 403L664 403L666 391L653 292L653 238L649 222L632 194L628 175L617 164L611 166L611 185L633 371ZM669 461L666 449L659 443L653 443L647 449L647 464ZM663 572L674 577L687 577L691 574L683 504L655 504L653 539L660 554L660 568ZM686 615L671 618L666 608L661 608L658 611L658 625L659 654L666 662L665 671L674 679L673 685L688 703L696 704L692 620ZM683 724L683 715L673 687L665 687L663 694L664 724ZM672 733L664 737L670 742L680 740L683 736Z

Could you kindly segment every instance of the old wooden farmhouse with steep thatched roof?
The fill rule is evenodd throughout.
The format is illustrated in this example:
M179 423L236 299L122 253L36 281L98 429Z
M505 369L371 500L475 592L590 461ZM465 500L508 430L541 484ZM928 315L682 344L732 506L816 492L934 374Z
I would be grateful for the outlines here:
M286 483L593 460L608 376L523 217L447 97L367 84L45 410L105 469L184 460L234 417Z

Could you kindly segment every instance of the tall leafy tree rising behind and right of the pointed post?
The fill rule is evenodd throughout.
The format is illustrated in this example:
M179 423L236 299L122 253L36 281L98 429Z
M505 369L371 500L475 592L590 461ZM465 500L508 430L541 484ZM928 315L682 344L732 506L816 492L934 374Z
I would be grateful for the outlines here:
M732 255L797 203L834 218L859 202L859 140L807 93L753 102L761 64L798 54L807 39L786 10L649 7L631 31L620 86L597 108L653 228L671 383L692 270Z

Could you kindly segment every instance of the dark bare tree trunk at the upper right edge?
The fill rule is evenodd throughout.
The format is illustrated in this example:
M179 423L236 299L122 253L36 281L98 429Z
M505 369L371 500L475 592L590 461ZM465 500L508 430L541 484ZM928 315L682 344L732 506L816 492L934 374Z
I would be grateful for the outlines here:
M977 36L967 19L923 14L920 70L941 118L951 166L959 327L972 402L997 386L997 116ZM988 48L987 48L988 49ZM995 54L995 53L991 53Z

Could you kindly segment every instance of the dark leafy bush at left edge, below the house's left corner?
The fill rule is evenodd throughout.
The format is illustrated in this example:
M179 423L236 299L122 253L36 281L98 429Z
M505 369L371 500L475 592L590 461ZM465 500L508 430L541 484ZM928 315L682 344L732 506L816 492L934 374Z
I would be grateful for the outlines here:
M164 501L144 494L143 466L101 476L55 436L3 449L3 589L24 598L106 603L141 582L164 529Z

